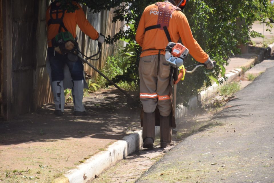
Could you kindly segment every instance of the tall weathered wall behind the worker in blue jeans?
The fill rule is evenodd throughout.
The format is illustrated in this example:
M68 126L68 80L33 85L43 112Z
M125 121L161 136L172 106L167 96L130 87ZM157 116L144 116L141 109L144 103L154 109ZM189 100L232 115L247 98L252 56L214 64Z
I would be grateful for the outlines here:
M53 100L45 67L45 11L50 0L0 1L3 10L3 59L0 62L3 65L3 83L0 82L3 93L0 91L0 95L3 98L3 119L11 120ZM92 14L85 7L83 9L99 33L113 36L123 26L122 23L111 22L112 11ZM77 35L86 55L98 51L97 41L90 40L79 29ZM98 68L104 66L106 57L114 51L114 45L104 44L102 51L102 58L92 62ZM88 65L84 69L89 75L97 75Z

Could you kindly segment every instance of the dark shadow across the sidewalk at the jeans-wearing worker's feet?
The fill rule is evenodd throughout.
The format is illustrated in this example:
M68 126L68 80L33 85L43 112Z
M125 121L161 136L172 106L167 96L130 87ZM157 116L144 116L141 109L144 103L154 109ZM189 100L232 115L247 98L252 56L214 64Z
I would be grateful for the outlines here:
M35 113L0 123L0 145L52 142L64 138L120 139L126 131L140 127L138 105L126 104L117 89L103 90L84 98L87 116L73 116L73 104L65 105L63 116L53 114L53 104Z

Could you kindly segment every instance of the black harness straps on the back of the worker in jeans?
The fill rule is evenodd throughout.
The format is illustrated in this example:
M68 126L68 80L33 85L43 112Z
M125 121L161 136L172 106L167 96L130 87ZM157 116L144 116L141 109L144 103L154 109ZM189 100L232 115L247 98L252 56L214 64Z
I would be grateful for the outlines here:
M59 18L59 13L62 13L61 18ZM56 14L56 19L53 18L53 14ZM63 22L63 18L65 16L65 10L62 10L60 6L56 5L56 2L51 3L51 10L50 10L50 16L51 19L48 21L48 26L51 24L60 24L58 32L61 32L61 28L63 28L65 31L68 31L68 29L65 27L65 24Z

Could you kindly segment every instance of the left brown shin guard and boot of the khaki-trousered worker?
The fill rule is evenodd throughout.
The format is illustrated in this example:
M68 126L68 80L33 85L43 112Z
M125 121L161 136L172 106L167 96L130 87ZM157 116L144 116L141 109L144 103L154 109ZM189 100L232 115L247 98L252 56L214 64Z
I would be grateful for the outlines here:
M153 148L155 139L155 111L144 112L143 116L143 148Z

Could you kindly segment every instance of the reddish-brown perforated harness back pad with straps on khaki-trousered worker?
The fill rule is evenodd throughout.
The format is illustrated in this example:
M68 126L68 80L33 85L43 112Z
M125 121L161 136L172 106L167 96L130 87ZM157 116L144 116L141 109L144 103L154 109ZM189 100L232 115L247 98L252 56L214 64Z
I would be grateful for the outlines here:
M155 4L158 6L158 11L159 11L157 25L152 25L152 26L146 27L145 32L148 30L151 30L151 29L164 30L166 33L168 42L171 42L170 34L168 32L170 16L173 13L173 11L181 10L181 8L174 6L172 4L166 3L166 2L158 2Z

